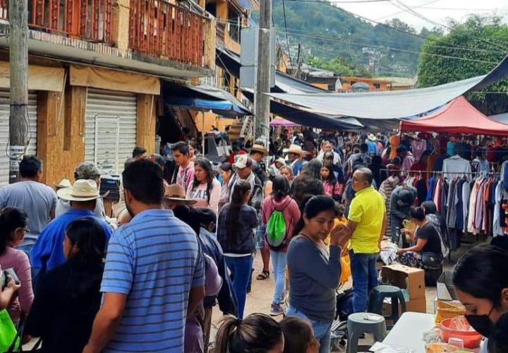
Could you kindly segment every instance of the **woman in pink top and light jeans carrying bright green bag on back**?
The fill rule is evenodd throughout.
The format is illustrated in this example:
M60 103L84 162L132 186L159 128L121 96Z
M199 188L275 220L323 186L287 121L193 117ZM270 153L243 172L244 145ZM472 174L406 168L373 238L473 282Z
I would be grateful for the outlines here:
M284 217L284 226L286 234L284 240L279 246L271 246L269 242L265 241L265 247L270 249L270 258L272 258L272 265L274 271L275 290L272 299L272 306L270 308L270 315L278 316L284 313L282 308L282 301L284 299L284 271L286 270L286 253L294 235L294 229L298 225L301 213L298 208L298 203L289 196L289 183L286 178L281 175L274 178L272 195L267 196L262 204L262 222L264 225L270 221L270 217L275 212L282 213ZM275 217L275 216L274 216ZM270 237L270 227L267 227L267 237Z

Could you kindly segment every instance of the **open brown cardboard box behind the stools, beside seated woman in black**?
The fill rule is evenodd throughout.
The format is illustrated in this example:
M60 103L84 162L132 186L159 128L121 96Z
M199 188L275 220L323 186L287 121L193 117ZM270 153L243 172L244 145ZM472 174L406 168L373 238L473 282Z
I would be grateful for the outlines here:
M425 299L424 270L397 263L383 266L381 269L381 277L384 282L389 282L389 284L401 289L407 289L411 301L413 301L413 299Z

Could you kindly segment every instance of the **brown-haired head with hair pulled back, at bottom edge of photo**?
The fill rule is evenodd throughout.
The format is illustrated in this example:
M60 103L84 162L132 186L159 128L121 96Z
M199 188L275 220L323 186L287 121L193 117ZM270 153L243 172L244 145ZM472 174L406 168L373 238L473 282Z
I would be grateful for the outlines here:
M215 336L217 353L283 353L284 344L279 323L262 313L243 320L225 316Z

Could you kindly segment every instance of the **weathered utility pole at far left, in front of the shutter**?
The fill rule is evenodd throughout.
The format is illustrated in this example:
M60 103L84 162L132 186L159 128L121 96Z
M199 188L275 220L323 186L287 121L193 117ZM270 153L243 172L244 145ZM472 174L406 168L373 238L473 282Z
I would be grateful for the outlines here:
M28 1L9 0L9 63L11 114L9 115L9 184L18 181L19 163L28 133Z

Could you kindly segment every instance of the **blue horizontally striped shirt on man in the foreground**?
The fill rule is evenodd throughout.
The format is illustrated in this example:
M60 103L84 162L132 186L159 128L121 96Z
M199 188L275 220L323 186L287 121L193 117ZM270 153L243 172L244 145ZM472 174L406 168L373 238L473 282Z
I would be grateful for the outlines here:
M146 210L108 245L101 292L127 295L104 352L183 352L189 291L205 283L198 239L171 210Z

